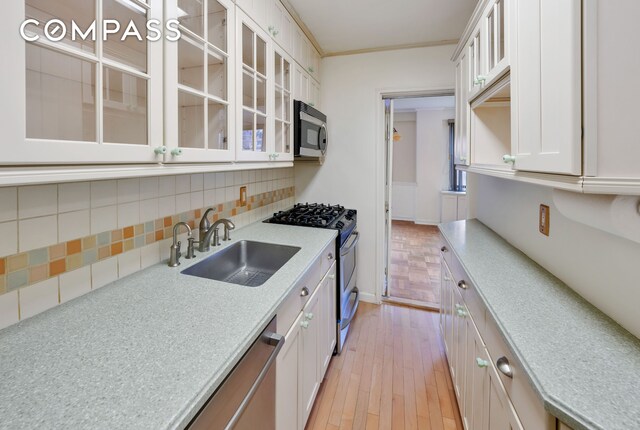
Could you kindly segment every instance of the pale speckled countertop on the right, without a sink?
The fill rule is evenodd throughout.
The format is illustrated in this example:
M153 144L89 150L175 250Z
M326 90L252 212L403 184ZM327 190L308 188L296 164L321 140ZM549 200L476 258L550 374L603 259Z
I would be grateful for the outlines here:
M639 339L479 221L440 230L549 413L640 429Z

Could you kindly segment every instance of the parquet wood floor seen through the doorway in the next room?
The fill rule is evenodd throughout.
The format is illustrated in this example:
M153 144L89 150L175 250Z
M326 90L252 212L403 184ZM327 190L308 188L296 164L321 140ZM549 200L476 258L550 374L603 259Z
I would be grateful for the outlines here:
M393 221L391 239L389 295L437 308L442 246L438 227Z

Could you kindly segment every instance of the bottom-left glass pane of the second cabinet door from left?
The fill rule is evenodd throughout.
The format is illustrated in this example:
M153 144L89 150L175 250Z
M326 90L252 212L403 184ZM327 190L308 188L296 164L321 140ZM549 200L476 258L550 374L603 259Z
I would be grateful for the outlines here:
M204 98L178 91L178 144L204 148Z

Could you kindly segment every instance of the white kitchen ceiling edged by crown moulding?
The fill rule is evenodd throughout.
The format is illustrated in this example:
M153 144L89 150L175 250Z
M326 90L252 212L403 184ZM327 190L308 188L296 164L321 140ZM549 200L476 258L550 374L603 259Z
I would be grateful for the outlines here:
M457 42L477 0L288 0L324 55Z

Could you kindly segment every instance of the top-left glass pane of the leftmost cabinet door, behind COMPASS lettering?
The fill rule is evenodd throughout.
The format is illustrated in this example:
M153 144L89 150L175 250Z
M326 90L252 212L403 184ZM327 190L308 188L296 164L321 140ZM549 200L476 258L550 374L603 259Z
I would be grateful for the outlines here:
M13 0L15 1L15 0ZM96 20L96 7L94 1L87 0L26 0L25 1L25 18L37 19L40 23L46 23L52 19L59 19L64 22L66 27L66 36L58 43L64 43L67 46L73 46L82 51L95 52L94 36L88 35L86 40L77 37L71 40L72 24L74 21L79 30L84 34L91 28L92 23ZM43 35L44 25L27 26L28 31L32 31L40 36ZM97 29L94 35L97 37Z

